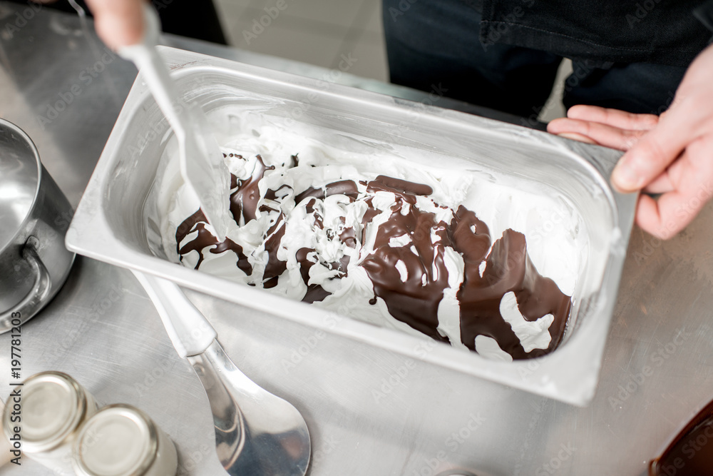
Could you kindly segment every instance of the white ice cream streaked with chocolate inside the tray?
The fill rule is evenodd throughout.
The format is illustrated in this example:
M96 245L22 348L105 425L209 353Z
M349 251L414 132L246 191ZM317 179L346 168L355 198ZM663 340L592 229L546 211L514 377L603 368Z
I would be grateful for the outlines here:
M247 275L237 268L236 255L230 250L221 254L203 250L200 265L202 271L261 287L262 271L265 270L268 258L263 234L275 224L279 211L282 211L286 228L277 258L287 262L287 270L279 276L277 285L268 291L301 300L307 292L307 285L300 275L295 253L300 248L312 248L315 252L308 259L315 264L309 268L308 284L321 285L324 290L332 293L314 305L351 318L423 336L406 323L393 318L381 298L377 299L375 305L369 305L369 300L374 298L374 288L366 270L359 266L373 250L378 227L391 216L394 194L377 192L374 195L372 205L380 212L367 228L364 243L358 243L356 248L345 246L338 236L344 228L353 228L357 241L360 241L361 219L366 211L364 201L350 202L347 197L337 195L318 200L314 208L322 216L324 229L312 226L306 210L308 199L294 203L294 191L299 193L309 187L319 188L335 181L352 180L359 193L364 193L366 186L360 181L371 181L376 176L384 175L431 186L433 193L430 196L418 196L416 206L421 211L435 213L438 217L436 221L442 219L449 223L453 210L463 205L488 225L493 242L507 228L523 233L528 238L528 253L538 272L552 278L566 295L572 295L575 290L577 273L584 264L583 257L588 243L585 233L580 233L580 228L583 228L580 216L561 198L554 199L524 189L509 188L495 183L492 176L440 168L437 163L432 167L420 163L416 166L414 162L395 153L352 152L327 146L262 121L257 115L233 115L230 121L234 131L243 131L234 133L223 146L223 152L228 155L226 161L230 171L240 179L249 178L257 166L256 156L260 154L265 164L275 169L267 171L265 178L260 181L260 195L263 198L259 206L270 206L278 211L259 211L257 218L250 223L230 223L227 237L242 246L252 265L252 274ZM231 153L233 157L230 157ZM175 146L170 144L165 154L168 155L166 161L173 161ZM299 158L299 166L291 168L291 156L295 154ZM237 158L237 155L243 158ZM283 185L290 186L292 190L280 189ZM195 203L192 194L186 191L175 175L165 178L164 189L160 195L168 207L168 213L161 223L163 246L168 257L178 261L176 228L198 209L198 203ZM277 191L279 203L264 198L268 189ZM406 206L408 204L404 204ZM403 209L401 213L408 213L408 210ZM553 226L553 223L556 225ZM179 245L193 238L195 233L187 236ZM434 243L439 239L435 234L432 236ZM391 238L389 245L404 246L409 241L408 236L398 236ZM344 255L350 257L346 276L326 264L339 262ZM449 287L444 290L438 306L438 333L447 336L454 346L465 348L461 344L456 299L458 287L463 280L463 258L450 247L446 247L444 258ZM198 259L198 251L192 251L183 257L183 264L193 268ZM396 270L402 280L408 278L408 270L403 262L396 264ZM532 323L527 322L518 310L513 293L506 293L503 297L501 313L520 338L525 351L548 347L548 327L553 321L552 315ZM476 338L476 349L481 355L511 360L510 355L501 350L495 340L485 336Z

